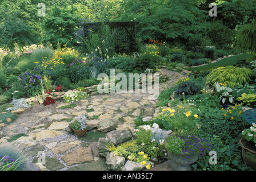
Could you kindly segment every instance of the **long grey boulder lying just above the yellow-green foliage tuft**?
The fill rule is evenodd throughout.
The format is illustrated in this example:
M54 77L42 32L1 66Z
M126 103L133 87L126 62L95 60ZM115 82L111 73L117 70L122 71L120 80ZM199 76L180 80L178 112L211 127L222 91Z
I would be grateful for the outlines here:
M106 138L115 145L127 142L132 137L128 130L114 130L106 134Z

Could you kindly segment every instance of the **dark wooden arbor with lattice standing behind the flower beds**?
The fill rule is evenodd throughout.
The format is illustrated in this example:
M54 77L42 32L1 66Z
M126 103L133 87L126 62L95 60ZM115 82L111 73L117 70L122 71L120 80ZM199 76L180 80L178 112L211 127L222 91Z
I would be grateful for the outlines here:
M137 51L137 23L138 22L103 22L111 28L115 52ZM102 26L102 22L86 23L89 26Z

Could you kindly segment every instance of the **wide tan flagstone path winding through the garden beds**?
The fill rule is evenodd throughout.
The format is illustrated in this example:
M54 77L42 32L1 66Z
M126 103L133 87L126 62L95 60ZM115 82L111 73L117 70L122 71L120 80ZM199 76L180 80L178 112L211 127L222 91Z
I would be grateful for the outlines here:
M161 69L160 72L168 75L170 80L159 84L159 92L188 73L167 69ZM109 170L105 158L101 158L97 151L98 139L105 136L105 133L97 130L99 122L117 117L116 130L128 129L133 132L133 119L138 115L145 119L153 118L157 109L157 100L149 100L148 96L143 93L95 94L77 102L77 106L66 109L59 108L66 105L62 100L48 106L35 103L19 114L14 122L0 126L0 147L17 148L41 170ZM85 137L77 137L68 127L69 122L81 114L89 116L87 123L90 128ZM17 134L26 136L7 142L7 139ZM45 155L45 163L42 154ZM43 163L43 166L38 162Z

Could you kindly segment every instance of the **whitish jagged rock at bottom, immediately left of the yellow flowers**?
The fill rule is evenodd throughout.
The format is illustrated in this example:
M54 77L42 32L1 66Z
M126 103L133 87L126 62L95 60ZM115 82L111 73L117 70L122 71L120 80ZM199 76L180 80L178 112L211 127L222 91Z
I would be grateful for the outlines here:
M123 165L125 164L125 158L114 155L114 152L110 152L106 156L106 164L109 165L109 168L114 171L121 171Z

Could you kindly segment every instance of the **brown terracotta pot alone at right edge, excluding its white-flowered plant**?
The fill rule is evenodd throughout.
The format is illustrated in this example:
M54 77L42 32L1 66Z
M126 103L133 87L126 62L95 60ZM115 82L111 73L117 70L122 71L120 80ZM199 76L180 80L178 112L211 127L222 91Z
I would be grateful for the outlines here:
M256 170L256 152L251 151L249 148L246 148L243 144L243 139L242 137L239 140L239 143L242 146L242 159L243 162L245 162L246 166L251 167L252 169Z

